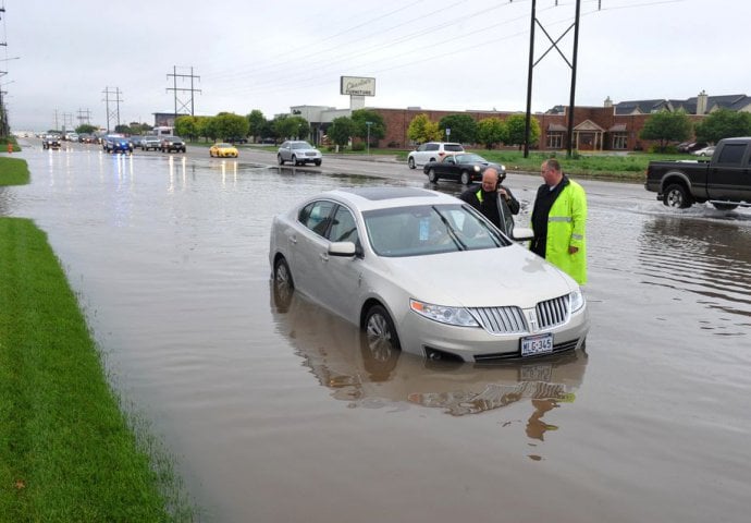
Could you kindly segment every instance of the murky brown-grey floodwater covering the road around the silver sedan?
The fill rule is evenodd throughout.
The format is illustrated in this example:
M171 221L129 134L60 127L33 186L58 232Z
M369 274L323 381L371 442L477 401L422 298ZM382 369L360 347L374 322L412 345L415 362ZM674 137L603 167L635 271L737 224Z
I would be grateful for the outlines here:
M751 210L670 210L584 181L586 353L433 366L370 353L269 282L274 214L340 185L422 185L406 167L398 182L22 156L33 182L0 188L0 214L48 233L114 386L204 521L748 521ZM539 183L507 180L522 222Z

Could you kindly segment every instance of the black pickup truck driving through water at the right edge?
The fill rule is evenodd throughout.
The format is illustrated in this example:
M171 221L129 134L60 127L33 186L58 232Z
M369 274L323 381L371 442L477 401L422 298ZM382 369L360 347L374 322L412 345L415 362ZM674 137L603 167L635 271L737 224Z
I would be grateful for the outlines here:
M650 161L644 187L669 207L751 207L751 137L721 139L710 161Z

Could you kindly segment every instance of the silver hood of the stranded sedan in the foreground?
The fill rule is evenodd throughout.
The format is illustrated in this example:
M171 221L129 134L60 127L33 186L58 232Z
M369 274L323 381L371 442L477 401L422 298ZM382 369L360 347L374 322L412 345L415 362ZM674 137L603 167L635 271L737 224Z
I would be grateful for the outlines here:
M381 259L390 279L410 297L438 305L527 308L577 288L562 270L516 244Z

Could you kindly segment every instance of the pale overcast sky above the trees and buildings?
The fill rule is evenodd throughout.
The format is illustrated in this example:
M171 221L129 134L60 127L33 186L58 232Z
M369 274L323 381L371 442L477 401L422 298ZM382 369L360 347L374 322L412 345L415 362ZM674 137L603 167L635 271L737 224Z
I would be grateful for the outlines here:
M751 95L751 2L581 0L576 105ZM525 111L532 0L0 0L12 130L349 107ZM531 109L568 105L576 0L537 0ZM543 32L544 29L544 32ZM558 40L552 49L551 40ZM564 60L565 57L566 60ZM3 74L4 73L4 74ZM176 76L170 76L174 75ZM193 78L189 75L194 75ZM177 88L180 90L170 90ZM109 93L109 94L108 94ZM119 102L115 102L119 100Z

